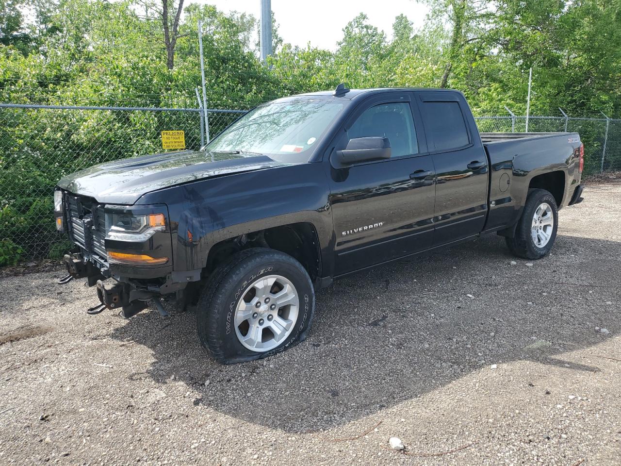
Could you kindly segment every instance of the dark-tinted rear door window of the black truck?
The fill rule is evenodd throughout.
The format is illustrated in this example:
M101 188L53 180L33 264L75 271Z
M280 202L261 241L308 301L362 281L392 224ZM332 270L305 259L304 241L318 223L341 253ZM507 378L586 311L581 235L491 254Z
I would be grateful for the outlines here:
M425 130L435 150L449 150L468 145L468 129L457 102L425 102Z

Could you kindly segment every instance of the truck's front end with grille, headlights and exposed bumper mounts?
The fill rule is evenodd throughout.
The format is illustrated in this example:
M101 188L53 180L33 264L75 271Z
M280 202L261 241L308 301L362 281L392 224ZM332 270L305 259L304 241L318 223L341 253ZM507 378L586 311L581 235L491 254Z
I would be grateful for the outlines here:
M129 318L155 301L184 296L191 281L201 280L201 270L173 270L171 222L166 204L109 205L88 196L57 190L57 217L74 245L63 258L67 275L59 283L85 278L97 286L100 304L89 314L103 309L120 309Z

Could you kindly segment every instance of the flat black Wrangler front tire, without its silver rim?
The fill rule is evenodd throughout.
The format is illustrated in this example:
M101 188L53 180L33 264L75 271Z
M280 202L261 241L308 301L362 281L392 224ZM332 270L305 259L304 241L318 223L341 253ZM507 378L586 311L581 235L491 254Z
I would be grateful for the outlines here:
M234 327L235 308L241 293L261 275L276 274L287 278L299 298L297 320L291 334L268 352L247 349ZM288 254L273 249L246 249L232 255L217 267L202 290L196 306L196 324L201 344L222 364L233 364L283 352L306 339L315 310L315 293L311 278L301 263Z

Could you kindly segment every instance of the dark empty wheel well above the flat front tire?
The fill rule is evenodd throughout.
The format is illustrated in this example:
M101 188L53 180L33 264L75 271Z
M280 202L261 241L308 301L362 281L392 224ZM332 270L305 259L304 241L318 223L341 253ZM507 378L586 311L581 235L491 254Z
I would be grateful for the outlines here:
M307 222L259 230L216 243L207 255L205 272L211 274L227 257L251 247L267 247L289 254L306 268L311 280L320 276L319 239L315 227Z

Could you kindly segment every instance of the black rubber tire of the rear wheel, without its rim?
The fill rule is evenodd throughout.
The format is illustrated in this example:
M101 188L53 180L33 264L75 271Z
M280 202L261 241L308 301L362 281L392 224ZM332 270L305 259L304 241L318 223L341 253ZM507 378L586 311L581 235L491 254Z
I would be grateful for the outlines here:
M554 217L554 224L550 239L543 247L538 247L531 235L533 215L537 211L538 206L542 203L547 203L551 209ZM509 250L525 259L537 260L550 254L554 242L556 240L556 230L558 229L558 208L556 206L556 200L554 196L546 190L531 189L528 190L528 196L526 198L526 204L522 216L520 217L517 227L515 228L515 235L512 238L505 238L507 247Z

